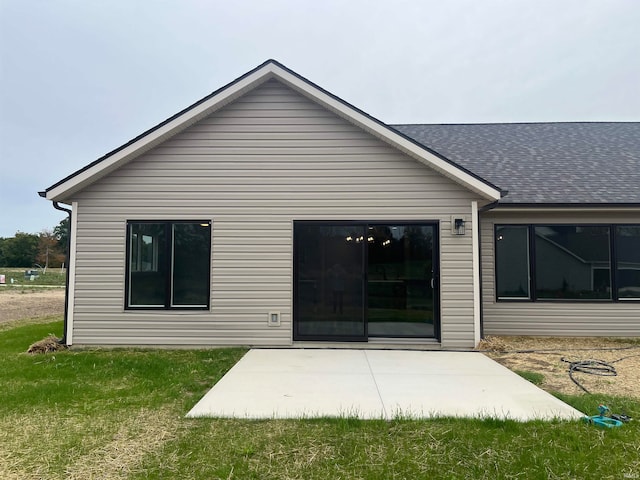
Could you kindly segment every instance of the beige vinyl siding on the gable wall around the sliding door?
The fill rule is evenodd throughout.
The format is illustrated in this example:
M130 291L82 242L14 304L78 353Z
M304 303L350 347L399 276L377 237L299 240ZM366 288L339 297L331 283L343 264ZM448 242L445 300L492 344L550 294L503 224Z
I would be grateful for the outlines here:
M473 346L479 200L276 81L74 196L76 344L290 345L294 220L440 224L442 345ZM127 220L211 220L210 311L125 311ZM281 312L281 326L267 314Z

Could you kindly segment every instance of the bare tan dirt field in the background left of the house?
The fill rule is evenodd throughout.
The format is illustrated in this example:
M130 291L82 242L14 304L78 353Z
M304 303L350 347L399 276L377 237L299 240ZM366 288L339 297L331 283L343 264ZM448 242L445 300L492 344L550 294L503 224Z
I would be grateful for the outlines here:
M64 313L64 289L0 288L0 323Z

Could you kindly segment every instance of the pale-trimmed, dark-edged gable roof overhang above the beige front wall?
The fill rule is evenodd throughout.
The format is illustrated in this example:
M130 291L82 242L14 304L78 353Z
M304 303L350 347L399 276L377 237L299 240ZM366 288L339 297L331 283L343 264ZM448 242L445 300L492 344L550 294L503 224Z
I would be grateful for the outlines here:
M401 132L389 128L381 121L320 88L275 60L267 60L262 65L259 65L228 85L168 118L123 146L60 180L47 188L43 196L48 200L65 201L75 192L106 176L130 160L193 125L198 120L201 120L241 97L248 91L274 78L442 175L451 178L456 183L476 192L483 198L488 200L500 199L502 192L492 183L472 173L470 170L457 165L445 156L431 150L429 147L405 136Z

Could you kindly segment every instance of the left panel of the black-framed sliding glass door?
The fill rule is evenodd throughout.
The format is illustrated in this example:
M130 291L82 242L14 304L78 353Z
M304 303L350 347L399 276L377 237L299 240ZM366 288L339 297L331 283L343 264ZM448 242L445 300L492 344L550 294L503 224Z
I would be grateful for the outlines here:
M362 225L296 225L297 339L366 339L364 230Z

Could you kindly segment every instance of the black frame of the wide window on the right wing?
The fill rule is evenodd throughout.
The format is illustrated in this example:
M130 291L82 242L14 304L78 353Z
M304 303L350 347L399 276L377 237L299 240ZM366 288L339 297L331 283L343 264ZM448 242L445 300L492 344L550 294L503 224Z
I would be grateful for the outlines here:
M610 288L611 298L601 299L581 299L581 298L538 298L536 289L536 246L535 246L535 227L607 227L609 229L609 272L610 272ZM640 298L619 297L618 296L618 258L617 244L618 235L616 234L618 227L640 227L637 223L495 223L493 225L493 278L494 278L494 301L500 303L640 303ZM528 239L528 263L529 263L529 297L530 298L508 298L498 297L498 252L496 238L499 227L527 227Z

